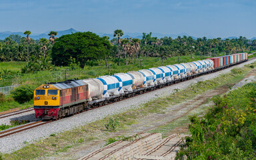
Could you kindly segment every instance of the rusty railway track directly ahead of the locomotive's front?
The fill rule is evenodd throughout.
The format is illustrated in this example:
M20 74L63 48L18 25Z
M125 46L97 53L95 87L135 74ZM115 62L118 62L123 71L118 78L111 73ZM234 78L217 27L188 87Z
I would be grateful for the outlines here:
M32 128L38 127L40 125L45 125L45 124L51 123L51 122L52 121L36 121L36 122L27 123L25 125L19 125L17 127L11 128L11 129L5 129L4 131L0 131L0 138L7 137L8 135L13 135L15 133L19 133L21 131L25 131L27 129L32 129Z

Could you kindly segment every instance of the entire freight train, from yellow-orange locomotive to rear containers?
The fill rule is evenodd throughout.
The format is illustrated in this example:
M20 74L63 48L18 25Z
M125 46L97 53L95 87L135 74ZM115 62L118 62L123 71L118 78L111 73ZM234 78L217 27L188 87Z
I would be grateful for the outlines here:
M46 83L34 91L35 117L59 119L218 71L247 59L247 53L237 53L189 63L104 75L95 79Z

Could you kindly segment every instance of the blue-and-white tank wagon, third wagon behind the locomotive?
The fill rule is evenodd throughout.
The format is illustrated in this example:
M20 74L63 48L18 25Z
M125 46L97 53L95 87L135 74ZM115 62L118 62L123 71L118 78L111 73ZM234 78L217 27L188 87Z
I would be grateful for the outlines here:
M113 75L119 81L119 93L124 93L125 91L133 91L133 79L130 75L126 73L116 73Z

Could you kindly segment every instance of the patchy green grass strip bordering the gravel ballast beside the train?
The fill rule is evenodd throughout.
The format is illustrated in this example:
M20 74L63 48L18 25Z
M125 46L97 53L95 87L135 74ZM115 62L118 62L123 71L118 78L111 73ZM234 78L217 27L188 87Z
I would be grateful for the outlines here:
M253 63L253 65L256 66L256 63ZM170 105L175 105L188 99L193 99L195 95L199 95L210 89L237 83L237 81L245 77L245 75L251 70L251 67L246 65L239 70L241 72L237 71L237 69L232 69L231 73L221 75L215 79L195 83L186 89L176 91L166 97L153 99L150 102L141 105L138 109L131 109L125 113L113 115L112 117L119 117L121 124L120 127L117 128L117 131L132 129L132 124L139 123L140 119L145 118L146 116L151 116L153 113L164 113L165 109ZM112 132L105 129L104 124L108 120L109 117L105 117L104 119L89 123L82 127L77 127L70 131L55 134L55 136L50 136L46 139L36 141L33 144L28 144L13 153L4 154L3 157L5 159L36 159L39 157L42 158L56 155L61 152L67 152L70 148L89 144L91 141L95 141L97 139L118 139L118 137L111 137ZM177 119L177 121L173 121L172 123L159 127L155 129L155 131L151 132L160 132L166 135L168 131L173 129L171 127L172 125L177 127L179 125L184 125L184 123L187 123L187 117Z

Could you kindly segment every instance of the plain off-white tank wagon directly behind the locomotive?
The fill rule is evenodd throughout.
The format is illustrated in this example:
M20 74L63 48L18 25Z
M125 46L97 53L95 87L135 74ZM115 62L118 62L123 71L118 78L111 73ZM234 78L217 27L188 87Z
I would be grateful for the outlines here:
M104 86L99 79L83 79L88 84L89 100L103 98Z

